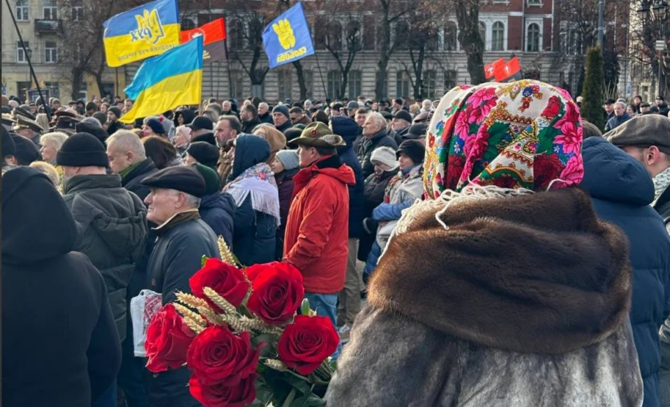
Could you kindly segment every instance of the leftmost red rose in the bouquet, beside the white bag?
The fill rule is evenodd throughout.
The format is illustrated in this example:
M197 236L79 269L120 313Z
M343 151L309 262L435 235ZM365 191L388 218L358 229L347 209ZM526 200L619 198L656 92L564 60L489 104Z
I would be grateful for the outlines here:
M179 369L186 362L186 350L191 345L195 333L186 326L184 320L174 309L174 305L165 304L151 318L147 330L144 349L147 350L147 369L158 373L170 369Z

